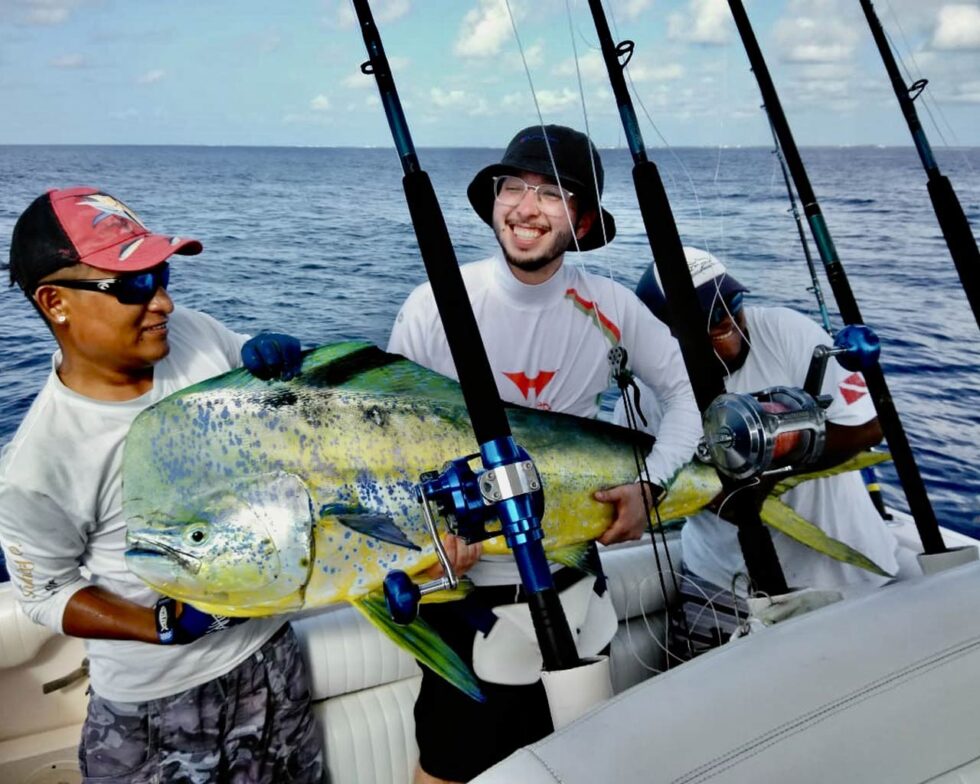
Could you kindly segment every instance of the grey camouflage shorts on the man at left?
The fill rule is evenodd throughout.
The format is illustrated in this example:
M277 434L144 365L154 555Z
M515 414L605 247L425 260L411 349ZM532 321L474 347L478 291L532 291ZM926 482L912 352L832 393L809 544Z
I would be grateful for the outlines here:
M324 780L303 659L284 625L231 672L150 702L90 695L78 749L86 782Z

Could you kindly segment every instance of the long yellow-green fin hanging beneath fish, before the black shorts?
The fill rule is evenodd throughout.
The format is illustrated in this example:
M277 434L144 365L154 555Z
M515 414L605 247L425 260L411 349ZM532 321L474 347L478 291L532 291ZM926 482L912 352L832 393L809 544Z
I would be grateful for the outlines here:
M405 626L395 623L388 614L388 607L380 591L357 599L352 604L373 626L390 637L399 648L408 651L420 664L424 664L477 702L486 700L473 671L446 645L438 632L421 618L416 618Z

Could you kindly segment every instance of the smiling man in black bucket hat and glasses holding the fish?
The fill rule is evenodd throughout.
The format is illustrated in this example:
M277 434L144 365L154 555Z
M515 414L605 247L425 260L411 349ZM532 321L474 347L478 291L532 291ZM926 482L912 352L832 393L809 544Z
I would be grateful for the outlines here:
M666 401L647 460L653 481L666 483L690 459L700 435L677 343L632 292L564 263L567 252L601 248L616 234L612 215L600 203L603 179L602 161L584 134L559 125L520 131L500 162L477 173L467 189L473 209L493 228L500 253L464 265L463 280L503 400L594 417L612 383L609 351L625 348L633 372ZM455 377L428 284L402 306L388 350ZM639 483L596 488L596 499L610 505L602 543L642 535L643 489ZM659 488L645 489L648 500L659 494ZM478 553L476 546L450 541L464 565ZM470 598L453 606L425 605L423 617L473 664L487 702L475 703L423 671L415 706L418 782L467 781L552 729L540 653L519 662L497 655L496 646L513 637L493 608L524 601L513 559L480 558L469 576L477 585ZM598 653L616 626L604 586L567 568L554 579L563 603L587 603L579 652ZM589 582L582 592L584 579ZM445 721L447 716L452 720Z

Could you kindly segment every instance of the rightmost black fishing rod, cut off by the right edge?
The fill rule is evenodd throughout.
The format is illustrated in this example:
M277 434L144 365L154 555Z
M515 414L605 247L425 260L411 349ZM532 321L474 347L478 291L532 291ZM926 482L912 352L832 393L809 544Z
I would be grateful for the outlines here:
M970 229L966 215L963 213L960 200L953 190L953 184L948 177L939 171L939 164L936 163L936 159L932 155L929 140L919 122L919 115L915 111L915 99L922 94L928 80L920 79L906 86L902 74L898 70L898 65L895 63L895 56L888 45L888 39L885 37L885 29L875 13L871 0L861 0L861 8L864 9L868 26L871 28L871 35L874 36L878 51L881 52L881 59L885 63L885 70L888 71L892 89L895 91L895 97L898 98L898 105L902 109L902 114L905 115L905 122L908 123L909 131L912 133L912 141L915 143L915 149L922 161L922 168L926 170L928 175L926 187L932 201L932 208L936 211L939 227L946 239L946 247L949 248L949 253L953 257L953 263L959 273L966 298L970 302L970 307L973 308L973 317L977 321L977 326L980 326L980 250L977 250L976 239Z

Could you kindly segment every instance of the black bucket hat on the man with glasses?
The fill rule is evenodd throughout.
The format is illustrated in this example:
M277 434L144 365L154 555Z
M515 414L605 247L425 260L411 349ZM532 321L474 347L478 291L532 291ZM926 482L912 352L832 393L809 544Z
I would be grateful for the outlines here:
M551 155L548 148L551 148ZM551 157L554 156L554 165ZM590 160L591 158L591 160ZM592 161L595 161L595 180L592 177ZM584 210L594 209L595 183L602 193L603 171L602 159L595 145L584 133L579 133L564 125L532 125L513 138L500 163L487 166L477 173L466 189L470 204L476 210L483 222L493 225L493 178L504 174L519 175L521 172L532 172L543 177L554 177L558 170L561 186L570 190L579 200L579 214ZM599 207L602 221L596 220L592 228L578 241L578 249L582 251L601 248L611 242L616 236L616 221L606 210ZM605 226L605 236L603 236Z

